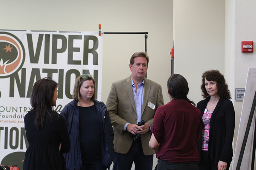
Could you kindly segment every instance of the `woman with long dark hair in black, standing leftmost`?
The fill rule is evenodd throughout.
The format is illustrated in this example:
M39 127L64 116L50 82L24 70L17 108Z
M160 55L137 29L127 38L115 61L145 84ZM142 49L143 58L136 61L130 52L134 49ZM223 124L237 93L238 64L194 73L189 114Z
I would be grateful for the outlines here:
M24 170L66 169L62 153L70 149L68 128L63 116L52 109L58 98L57 87L48 77L34 83L30 98L33 109L24 117L29 143Z

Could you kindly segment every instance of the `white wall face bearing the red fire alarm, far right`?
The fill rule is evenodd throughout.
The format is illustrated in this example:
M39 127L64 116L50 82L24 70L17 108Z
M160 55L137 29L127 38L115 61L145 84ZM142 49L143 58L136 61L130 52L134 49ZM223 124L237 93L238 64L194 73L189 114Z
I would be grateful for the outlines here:
M234 87L245 88L248 68L256 68L256 1L232 0L234 5ZM250 18L250 19L249 19ZM241 52L241 41L254 41L253 53ZM242 102L235 102L237 136L241 117ZM249 113L248 113L249 114ZM235 141L236 142L236 141Z

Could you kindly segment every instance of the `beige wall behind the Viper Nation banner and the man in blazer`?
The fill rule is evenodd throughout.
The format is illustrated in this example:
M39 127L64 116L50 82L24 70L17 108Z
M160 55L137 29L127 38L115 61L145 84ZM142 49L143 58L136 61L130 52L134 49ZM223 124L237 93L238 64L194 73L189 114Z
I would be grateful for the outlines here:
M162 85L167 103L172 19L172 0L9 0L1 1L0 29L98 31L101 24L103 32L149 32L147 77ZM103 102L106 103L112 82L130 75L130 57L134 52L144 51L144 44L144 34L104 35Z

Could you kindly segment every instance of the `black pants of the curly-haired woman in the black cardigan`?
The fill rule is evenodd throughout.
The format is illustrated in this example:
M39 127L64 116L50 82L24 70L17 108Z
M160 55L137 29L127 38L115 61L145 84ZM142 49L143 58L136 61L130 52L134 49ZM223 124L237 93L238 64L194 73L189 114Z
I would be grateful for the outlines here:
M207 151L201 151L201 163L199 166L199 170L217 170L218 164L215 165L211 160L210 157L207 155ZM227 163L226 170L229 169L230 162Z

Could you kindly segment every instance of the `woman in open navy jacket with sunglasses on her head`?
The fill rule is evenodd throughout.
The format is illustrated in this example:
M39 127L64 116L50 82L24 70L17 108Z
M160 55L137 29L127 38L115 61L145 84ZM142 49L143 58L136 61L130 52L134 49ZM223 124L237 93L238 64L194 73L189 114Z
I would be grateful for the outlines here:
M71 149L67 170L106 170L113 160L113 128L107 107L97 101L90 74L76 78L73 101L60 113L68 123Z

